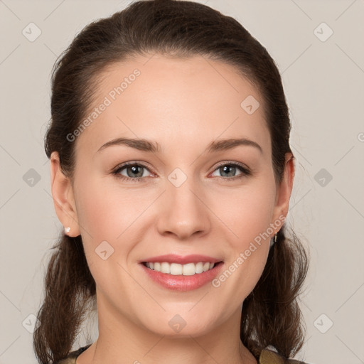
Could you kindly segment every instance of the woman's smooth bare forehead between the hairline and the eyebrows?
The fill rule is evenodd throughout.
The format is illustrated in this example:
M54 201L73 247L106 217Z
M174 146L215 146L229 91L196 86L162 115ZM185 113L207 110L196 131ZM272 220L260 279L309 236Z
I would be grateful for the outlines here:
M232 65L202 56L155 54L109 65L97 77L87 118L79 152L116 137L151 139L162 148L249 137L270 148L258 90Z

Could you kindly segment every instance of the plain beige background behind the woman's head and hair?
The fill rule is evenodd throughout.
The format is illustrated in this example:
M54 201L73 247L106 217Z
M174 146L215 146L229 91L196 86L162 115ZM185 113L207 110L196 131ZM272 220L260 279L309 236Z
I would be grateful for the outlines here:
M129 2L0 0L0 364L36 363L32 315L62 228L43 150L50 70L83 26ZM240 21L282 73L297 159L289 223L311 250L297 358L364 363L364 1L201 2ZM41 31L33 42L22 33L31 22Z

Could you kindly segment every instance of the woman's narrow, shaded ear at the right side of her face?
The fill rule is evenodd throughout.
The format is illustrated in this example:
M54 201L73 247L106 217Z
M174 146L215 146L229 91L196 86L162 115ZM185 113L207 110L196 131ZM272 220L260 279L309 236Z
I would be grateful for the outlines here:
M293 180L294 180L294 156L291 153L286 153L285 156L285 163L284 163L284 174L282 177L282 181L277 186L277 193L276 193L276 203L274 205L274 214L273 214L273 221L282 220L287 217L288 208L289 208L289 198L291 198L291 192L293 188ZM273 235L278 232L280 229L277 228L277 231L274 231Z

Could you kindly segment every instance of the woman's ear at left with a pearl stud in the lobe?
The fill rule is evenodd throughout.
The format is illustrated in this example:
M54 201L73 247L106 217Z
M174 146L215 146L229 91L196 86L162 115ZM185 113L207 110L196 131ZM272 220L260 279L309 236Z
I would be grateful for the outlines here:
M65 228L70 227L67 235L71 237L80 235L73 186L70 178L66 177L60 168L57 151L53 151L50 155L50 187L58 219Z

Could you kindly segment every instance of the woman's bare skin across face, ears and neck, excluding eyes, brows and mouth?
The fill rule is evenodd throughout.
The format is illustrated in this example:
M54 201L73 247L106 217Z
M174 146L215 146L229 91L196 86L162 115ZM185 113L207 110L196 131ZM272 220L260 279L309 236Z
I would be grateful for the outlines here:
M240 341L241 308L279 228L220 287L172 291L151 281L137 262L203 254L223 260L225 270L270 223L287 216L294 159L286 155L277 185L262 97L232 66L200 56L115 63L102 73L92 107L135 68L141 75L77 137L73 178L60 171L57 152L51 156L55 211L71 228L68 235L81 234L97 285L99 337L77 364L257 363ZM261 105L253 114L240 107L248 95ZM158 141L161 151L109 146L97 152L117 137ZM247 145L205 152L215 139L236 137L255 141L262 152ZM141 181L112 174L127 161L146 166L139 169ZM240 162L252 174L232 180L243 172L227 175L219 162ZM168 180L175 168L187 177L178 188ZM119 172L137 180L138 171L127 173ZM95 253L104 240L114 249L106 260ZM176 314L186 321L179 333L168 325Z

